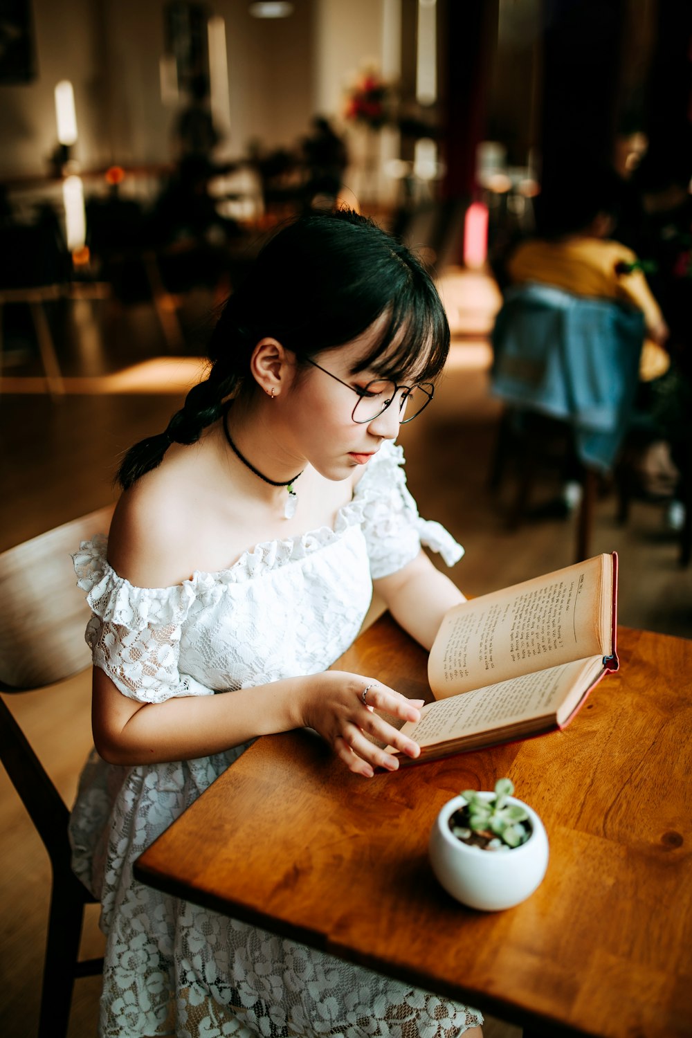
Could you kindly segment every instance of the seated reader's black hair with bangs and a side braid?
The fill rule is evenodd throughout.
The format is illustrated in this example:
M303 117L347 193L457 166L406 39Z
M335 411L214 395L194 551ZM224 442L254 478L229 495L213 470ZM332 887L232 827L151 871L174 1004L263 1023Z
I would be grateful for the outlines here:
M349 209L283 226L226 301L210 340L207 378L193 386L164 433L130 448L118 482L127 489L156 468L170 443L195 443L226 401L247 391L250 357L261 338L276 338L306 364L321 350L362 335L382 315L381 333L355 371L435 380L447 358L449 326L416 256Z

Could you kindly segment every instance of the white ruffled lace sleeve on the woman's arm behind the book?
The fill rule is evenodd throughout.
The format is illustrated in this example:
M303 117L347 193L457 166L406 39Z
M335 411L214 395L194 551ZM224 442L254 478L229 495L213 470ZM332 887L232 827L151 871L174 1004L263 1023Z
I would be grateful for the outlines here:
M447 566L464 554L451 534L438 522L421 519L406 485L404 452L383 444L356 488L363 506L363 531L373 580L403 569L421 544L439 551Z

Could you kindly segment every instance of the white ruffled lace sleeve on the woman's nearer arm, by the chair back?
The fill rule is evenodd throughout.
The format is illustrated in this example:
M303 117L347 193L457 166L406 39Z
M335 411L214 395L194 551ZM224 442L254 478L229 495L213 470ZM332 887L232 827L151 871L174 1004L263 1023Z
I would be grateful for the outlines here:
M214 694L178 672L181 629L194 600L192 588L135 588L109 566L104 537L82 542L73 559L77 583L88 593L92 611L85 638L93 665L123 695L163 703L176 695Z

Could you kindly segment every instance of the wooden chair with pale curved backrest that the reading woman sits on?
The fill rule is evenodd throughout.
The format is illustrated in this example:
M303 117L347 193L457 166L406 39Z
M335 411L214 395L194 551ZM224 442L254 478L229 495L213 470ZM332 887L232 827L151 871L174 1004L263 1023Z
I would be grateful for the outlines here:
M111 514L112 507L101 509L0 554L1 691L43 688L89 665L89 608L70 555L81 540L107 532ZM38 1038L63 1038L75 978L103 969L103 959L78 959L84 905L94 898L71 868L70 811L2 698L0 760L51 859Z

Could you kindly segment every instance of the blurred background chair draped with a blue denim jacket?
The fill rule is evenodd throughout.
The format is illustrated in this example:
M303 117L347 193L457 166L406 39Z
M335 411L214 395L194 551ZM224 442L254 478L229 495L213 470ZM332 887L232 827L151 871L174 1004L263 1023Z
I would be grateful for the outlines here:
M491 391L506 410L491 484L514 464L516 527L542 465L578 472L577 559L589 554L599 480L613 472L633 413L643 333L639 310L535 283L507 290L496 318Z

